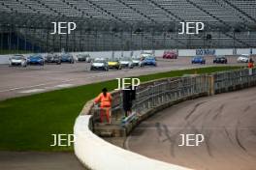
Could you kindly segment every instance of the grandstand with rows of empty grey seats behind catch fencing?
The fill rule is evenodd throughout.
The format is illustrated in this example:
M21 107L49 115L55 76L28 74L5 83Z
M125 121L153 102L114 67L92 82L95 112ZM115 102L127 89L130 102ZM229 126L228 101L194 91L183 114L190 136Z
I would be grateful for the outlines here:
M0 50L256 47L255 9L254 0L0 0ZM55 21L77 29L50 35ZM178 35L183 21L207 27Z

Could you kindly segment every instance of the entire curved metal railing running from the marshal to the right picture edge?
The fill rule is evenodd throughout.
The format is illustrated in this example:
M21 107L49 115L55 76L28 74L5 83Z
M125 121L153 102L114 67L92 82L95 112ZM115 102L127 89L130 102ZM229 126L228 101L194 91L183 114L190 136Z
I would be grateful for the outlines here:
M256 86L256 69L223 71L211 74L166 78L142 84L133 101L132 111L143 115L154 107L178 99L186 99L200 94L213 95L250 86ZM99 117L99 108L91 110ZM112 93L112 115L122 114L122 92ZM116 119L117 120L117 119Z

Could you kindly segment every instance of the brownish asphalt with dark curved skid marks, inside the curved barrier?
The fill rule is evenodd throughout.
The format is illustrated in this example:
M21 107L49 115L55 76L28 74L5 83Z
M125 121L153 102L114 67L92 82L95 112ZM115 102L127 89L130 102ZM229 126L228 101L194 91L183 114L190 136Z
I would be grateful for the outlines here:
M255 110L256 88L184 101L144 121L125 145L196 170L255 170ZM179 134L189 133L204 134L205 141L198 147L178 146Z

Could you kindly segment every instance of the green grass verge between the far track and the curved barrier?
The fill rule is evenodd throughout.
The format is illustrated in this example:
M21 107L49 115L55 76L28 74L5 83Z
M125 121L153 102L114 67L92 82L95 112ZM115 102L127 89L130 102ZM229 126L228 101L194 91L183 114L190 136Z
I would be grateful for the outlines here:
M169 71L139 78L142 82L183 74L236 70L238 67L212 67ZM50 147L52 133L73 133L84 103L95 98L103 87L113 90L116 80L57 90L28 97L0 101L0 150L73 151L73 147Z

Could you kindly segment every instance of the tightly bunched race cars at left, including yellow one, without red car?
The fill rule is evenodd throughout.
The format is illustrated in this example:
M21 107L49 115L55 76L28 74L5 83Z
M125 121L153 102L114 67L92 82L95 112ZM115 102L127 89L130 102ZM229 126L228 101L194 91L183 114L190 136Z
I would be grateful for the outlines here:
M110 69L121 70L124 68L133 69L134 67L157 66L156 58L151 53L144 53L141 56L120 57L120 58L94 58L89 54L78 54L76 57L71 53L48 53L45 56L42 54L32 54L25 57L21 54L16 54L9 58L9 66L27 67L29 65L44 66L46 64L61 65L62 63L75 64L76 62L91 63L91 71L109 71Z

